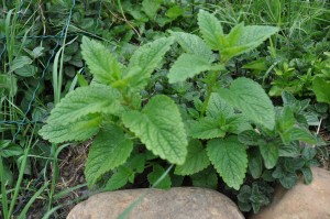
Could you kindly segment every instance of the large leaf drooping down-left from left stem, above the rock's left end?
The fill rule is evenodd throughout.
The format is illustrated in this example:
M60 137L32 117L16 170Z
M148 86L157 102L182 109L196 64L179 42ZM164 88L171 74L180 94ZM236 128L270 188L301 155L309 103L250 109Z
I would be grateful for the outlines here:
M133 142L114 124L103 127L96 135L88 153L85 176L89 186L105 173L123 164L133 150Z

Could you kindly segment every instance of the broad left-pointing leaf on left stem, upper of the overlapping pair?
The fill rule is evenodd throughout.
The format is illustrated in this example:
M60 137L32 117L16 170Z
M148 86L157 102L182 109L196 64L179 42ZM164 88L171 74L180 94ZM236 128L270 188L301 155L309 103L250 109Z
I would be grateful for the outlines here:
M64 125L95 112L119 116L123 111L121 100L120 92L109 86L80 87L61 100L52 110L47 123Z

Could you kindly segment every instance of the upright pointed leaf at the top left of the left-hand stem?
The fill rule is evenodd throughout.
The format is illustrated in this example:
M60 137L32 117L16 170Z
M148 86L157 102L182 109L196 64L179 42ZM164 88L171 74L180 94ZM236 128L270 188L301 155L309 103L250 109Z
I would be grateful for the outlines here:
M82 37L81 54L96 81L105 85L120 79L120 65L101 43Z

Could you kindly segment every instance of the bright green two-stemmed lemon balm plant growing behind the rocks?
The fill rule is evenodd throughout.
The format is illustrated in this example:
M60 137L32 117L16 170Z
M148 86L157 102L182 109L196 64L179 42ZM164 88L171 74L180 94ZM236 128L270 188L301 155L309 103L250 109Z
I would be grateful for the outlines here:
M174 40L186 53L172 66L169 83L183 81L200 72L210 70L206 78L209 80L208 94L201 109L201 114L207 112L207 117L191 121L197 122L191 125L197 130L188 129L188 135L196 139L219 138L208 143L204 164L187 171L196 173L206 167L209 163L207 154L229 186L238 189L243 183L248 166L245 146L234 135L224 136L251 128L249 120L273 129L274 107L261 86L248 78L235 79L230 89L219 88L218 92L213 92L213 86L228 59L255 48L277 29L239 24L229 34L223 34L220 22L208 12L201 11L198 21L206 43L197 35L173 32L173 37L163 37L139 48L128 66L120 64L100 43L82 39L82 57L94 74L94 81L88 87L69 92L52 111L48 124L40 133L53 143L84 141L96 135L86 166L89 185L125 163L133 150L134 138L161 158L177 165L189 165L185 162L188 141L179 108L164 95L152 97L141 108L139 95ZM213 64L216 56L211 48L220 52L221 62ZM194 65L187 65L189 63ZM249 95L244 94L246 89L251 90ZM261 105L256 102L258 100L263 100ZM242 113L235 113L233 107ZM208 132L208 129L213 130ZM189 156L194 156L194 150L189 150Z

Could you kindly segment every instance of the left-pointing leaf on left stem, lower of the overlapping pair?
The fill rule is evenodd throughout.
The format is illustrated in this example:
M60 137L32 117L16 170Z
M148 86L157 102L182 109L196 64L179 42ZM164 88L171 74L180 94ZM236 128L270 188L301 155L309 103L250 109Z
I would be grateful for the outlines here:
M52 143L63 143L67 141L85 141L99 131L102 122L100 114L87 114L72 123L48 123L45 124L38 134Z

